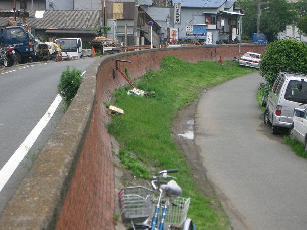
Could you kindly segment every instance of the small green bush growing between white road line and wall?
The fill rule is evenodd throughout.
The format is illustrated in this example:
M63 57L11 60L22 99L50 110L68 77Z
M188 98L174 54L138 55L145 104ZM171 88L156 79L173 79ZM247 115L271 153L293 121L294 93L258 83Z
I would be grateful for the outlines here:
M69 66L61 74L61 80L58 84L58 93L62 96L67 108L74 99L78 88L82 82L81 71L73 68L71 71Z

